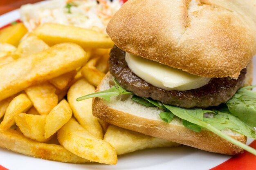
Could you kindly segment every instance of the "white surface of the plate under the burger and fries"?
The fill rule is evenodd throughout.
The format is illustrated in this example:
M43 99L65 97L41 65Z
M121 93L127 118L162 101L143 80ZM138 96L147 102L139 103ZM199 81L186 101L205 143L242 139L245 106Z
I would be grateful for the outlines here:
M0 27L20 18L17 10L0 16ZM256 73L256 57L254 57ZM254 82L256 84L256 74ZM247 144L253 140L249 139ZM188 146L177 148L146 149L118 157L114 166L99 163L72 164L28 157L0 148L0 165L10 170L206 170L231 158L231 156L205 152Z

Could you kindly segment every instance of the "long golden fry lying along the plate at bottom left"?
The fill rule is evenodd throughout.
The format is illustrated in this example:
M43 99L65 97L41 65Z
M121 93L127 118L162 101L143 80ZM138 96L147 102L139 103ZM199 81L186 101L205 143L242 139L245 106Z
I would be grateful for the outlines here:
M0 147L7 148L8 150L12 150L13 152L18 152L23 155L52 161L68 163L90 162L74 155L61 145L40 143L24 137L22 134L12 129L0 132Z

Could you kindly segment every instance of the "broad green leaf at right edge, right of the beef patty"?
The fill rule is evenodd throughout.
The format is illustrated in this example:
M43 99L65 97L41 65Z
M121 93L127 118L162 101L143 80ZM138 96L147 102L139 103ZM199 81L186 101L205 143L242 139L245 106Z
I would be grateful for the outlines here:
M251 86L253 87L253 86ZM256 93L240 88L229 101L229 111L250 126L256 127Z

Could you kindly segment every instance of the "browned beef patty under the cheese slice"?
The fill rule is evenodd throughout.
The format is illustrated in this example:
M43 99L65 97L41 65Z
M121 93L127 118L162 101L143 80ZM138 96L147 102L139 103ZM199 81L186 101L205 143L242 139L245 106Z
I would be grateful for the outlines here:
M117 82L127 91L140 97L152 98L163 104L175 105L182 108L207 108L218 106L227 102L236 91L243 86L246 68L243 69L238 79L212 78L210 82L197 89L188 91L167 91L148 84L143 79L132 73L125 61L125 52L114 46L110 51L110 73Z

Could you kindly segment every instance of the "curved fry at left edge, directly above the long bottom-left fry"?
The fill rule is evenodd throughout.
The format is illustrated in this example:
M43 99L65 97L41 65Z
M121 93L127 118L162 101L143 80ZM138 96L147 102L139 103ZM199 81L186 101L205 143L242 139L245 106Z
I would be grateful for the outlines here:
M19 113L24 113L32 107L32 103L25 94L14 97L6 109L4 119L0 124L1 130L7 130L15 124L14 117Z

